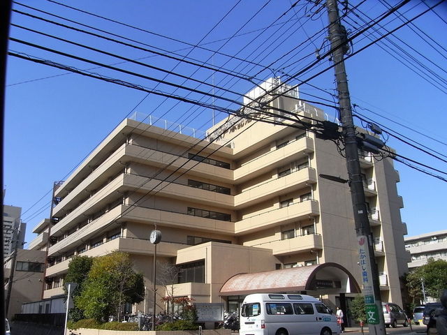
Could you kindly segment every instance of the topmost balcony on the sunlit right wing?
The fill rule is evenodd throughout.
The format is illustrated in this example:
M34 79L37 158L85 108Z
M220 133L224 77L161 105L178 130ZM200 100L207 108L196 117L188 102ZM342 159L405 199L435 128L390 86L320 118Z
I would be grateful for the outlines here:
M298 153L311 153L314 151L314 142L310 137L302 137L287 144L281 149L269 151L263 156L242 163L240 168L234 171L234 179L237 184L251 179L254 175L270 172L274 168L280 168L286 163L294 161Z

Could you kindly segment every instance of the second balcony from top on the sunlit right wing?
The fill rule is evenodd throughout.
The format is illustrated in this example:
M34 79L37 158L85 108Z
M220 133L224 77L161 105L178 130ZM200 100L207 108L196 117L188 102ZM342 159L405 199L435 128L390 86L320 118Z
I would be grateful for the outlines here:
M263 184L247 188L235 195L236 209L248 207L251 204L263 202L273 196L277 197L290 192L292 189L303 188L316 182L316 170L304 168L284 177L272 179Z

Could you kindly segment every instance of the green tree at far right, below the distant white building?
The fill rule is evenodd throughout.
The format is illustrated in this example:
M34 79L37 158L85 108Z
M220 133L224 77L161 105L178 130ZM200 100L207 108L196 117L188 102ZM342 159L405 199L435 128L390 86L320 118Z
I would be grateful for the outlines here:
M447 261L429 258L426 265L411 269L406 275L406 287L413 304L423 301L421 278L424 281L424 289L427 297L438 298L441 292L447 288Z

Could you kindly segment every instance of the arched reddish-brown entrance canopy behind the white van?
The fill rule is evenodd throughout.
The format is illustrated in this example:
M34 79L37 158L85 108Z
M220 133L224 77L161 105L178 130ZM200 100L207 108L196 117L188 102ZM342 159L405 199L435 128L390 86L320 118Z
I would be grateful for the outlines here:
M223 284L220 295L297 291L306 291L310 295L361 292L356 279L348 270L342 265L328 262L254 274L237 274Z

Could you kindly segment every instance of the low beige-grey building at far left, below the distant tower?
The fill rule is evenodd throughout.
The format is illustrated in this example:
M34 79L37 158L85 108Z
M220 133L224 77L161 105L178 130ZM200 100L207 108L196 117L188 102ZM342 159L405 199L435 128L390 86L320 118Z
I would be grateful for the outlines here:
M44 263L44 251L17 250L8 315L6 315L8 319L13 318L16 313L21 313L22 304L41 299ZM11 258L5 265L5 292L7 292L12 264Z

